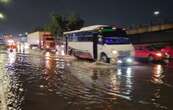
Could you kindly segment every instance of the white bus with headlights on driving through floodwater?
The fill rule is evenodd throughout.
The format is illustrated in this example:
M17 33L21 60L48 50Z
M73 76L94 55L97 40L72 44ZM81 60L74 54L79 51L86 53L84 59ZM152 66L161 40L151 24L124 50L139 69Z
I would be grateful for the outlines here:
M79 58L104 63L132 63L134 47L125 30L108 25L94 25L64 32L68 53Z

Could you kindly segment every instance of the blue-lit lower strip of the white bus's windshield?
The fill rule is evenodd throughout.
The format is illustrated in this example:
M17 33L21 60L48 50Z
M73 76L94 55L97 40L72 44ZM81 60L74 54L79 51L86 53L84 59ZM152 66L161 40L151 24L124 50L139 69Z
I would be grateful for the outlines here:
M108 45L131 44L130 40L124 37L104 37L103 40L103 42Z

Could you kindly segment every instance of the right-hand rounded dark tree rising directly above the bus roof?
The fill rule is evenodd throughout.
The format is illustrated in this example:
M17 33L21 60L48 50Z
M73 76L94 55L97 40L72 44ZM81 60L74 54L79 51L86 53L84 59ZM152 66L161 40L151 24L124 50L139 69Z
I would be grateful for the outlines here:
M76 14L72 14L67 17L67 30L72 31L72 30L78 30L84 26L84 20L81 19L79 16Z

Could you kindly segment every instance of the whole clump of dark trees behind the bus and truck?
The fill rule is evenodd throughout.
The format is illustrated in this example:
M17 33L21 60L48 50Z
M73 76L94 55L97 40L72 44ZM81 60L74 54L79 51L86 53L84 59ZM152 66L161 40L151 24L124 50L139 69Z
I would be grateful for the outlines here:
M51 32L55 38L59 38L63 36L63 32L80 29L83 25L84 20L75 14L67 18L59 14L52 14L51 21L45 26L44 30Z

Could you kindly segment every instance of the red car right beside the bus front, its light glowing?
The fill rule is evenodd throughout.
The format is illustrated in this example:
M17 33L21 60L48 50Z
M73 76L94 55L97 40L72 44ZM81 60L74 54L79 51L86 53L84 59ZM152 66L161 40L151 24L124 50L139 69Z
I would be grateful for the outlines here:
M167 55L153 46L137 46L135 47L135 58L147 59L148 61L163 61L167 58Z

